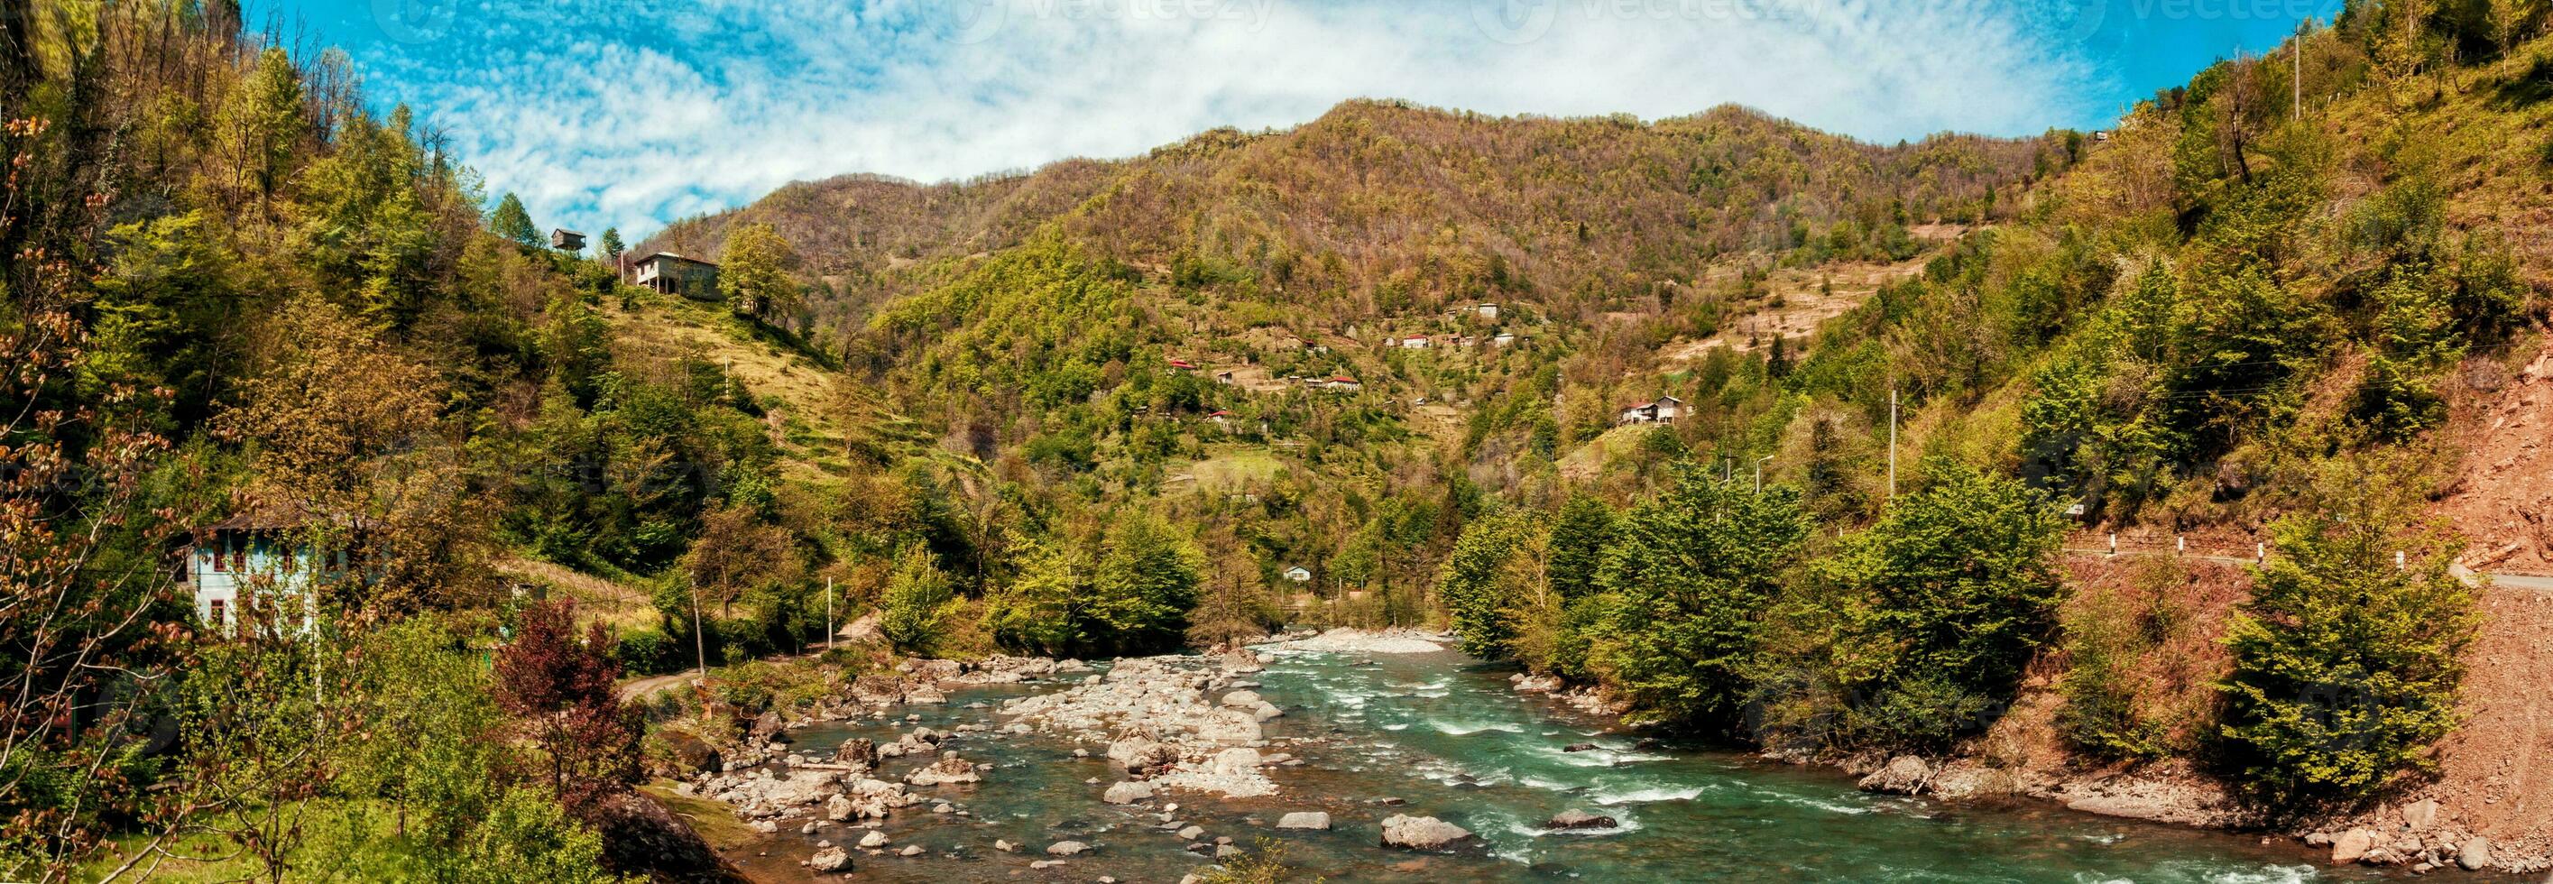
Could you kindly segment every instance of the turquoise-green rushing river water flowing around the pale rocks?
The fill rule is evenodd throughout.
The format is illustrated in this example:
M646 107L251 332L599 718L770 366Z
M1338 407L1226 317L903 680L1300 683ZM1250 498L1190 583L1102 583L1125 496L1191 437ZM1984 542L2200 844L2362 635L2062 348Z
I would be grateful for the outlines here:
M1261 800L1164 795L1182 823L1236 843L1276 838L1305 881L2354 881L2372 874L2318 869L2303 846L2216 835L2167 825L2073 815L2037 802L1948 805L1856 792L1851 779L1759 761L1728 751L1634 751L1626 733L1542 697L1506 687L1506 669L1460 654L1279 654L1256 687L1287 710L1269 720L1274 746L1307 759L1271 769L1284 789ZM991 708L1021 692L1062 685L955 692L947 708L906 708L922 723L1001 723ZM904 726L909 728L909 726ZM883 723L799 731L802 751L830 751L848 736L894 738ZM1603 749L1565 754L1568 743ZM937 787L970 815L901 810L886 833L924 856L855 853L873 881L1177 881L1205 866L1185 841L1157 830L1146 807L1103 805L1113 782L1105 761L1072 759L1052 736L955 738L973 761L993 761L978 787ZM1103 743L1088 743L1103 756ZM911 759L888 761L904 774ZM1100 784L1085 784L1100 777ZM934 792L934 789L922 789ZM1381 805L1396 797L1402 805ZM1550 815L1585 807L1621 823L1608 833L1545 833ZM1333 830L1274 830L1287 810L1328 810ZM1407 853L1376 846L1379 820L1435 815L1481 835L1460 853ZM842 830L784 835L779 848L812 851ZM1021 843L996 853L993 841ZM1095 853L1062 869L1031 871L1054 841L1085 841ZM776 856L779 856L776 848ZM804 853L799 853L804 856Z

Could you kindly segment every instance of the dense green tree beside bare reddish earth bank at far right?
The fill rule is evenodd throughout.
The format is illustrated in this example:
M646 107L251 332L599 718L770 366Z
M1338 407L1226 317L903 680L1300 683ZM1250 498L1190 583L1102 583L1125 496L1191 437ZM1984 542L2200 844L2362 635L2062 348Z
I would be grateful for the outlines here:
M2226 629L2224 736L2244 782L2285 800L2356 800L2456 728L2479 613L2451 572L2464 542L2379 503L2382 478L2270 526L2277 557ZM2405 565L2395 567L2395 552Z

